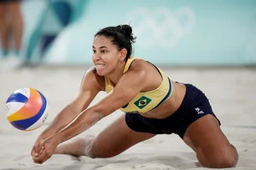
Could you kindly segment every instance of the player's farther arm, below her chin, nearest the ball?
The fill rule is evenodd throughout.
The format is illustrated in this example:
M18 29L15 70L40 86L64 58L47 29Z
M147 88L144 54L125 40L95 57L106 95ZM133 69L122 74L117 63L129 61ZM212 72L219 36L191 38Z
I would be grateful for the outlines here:
M100 84L97 79L93 68L90 68L88 72L84 74L83 80L79 87L79 90L74 97L74 100L70 102L59 114L54 118L48 128L41 133L41 138L49 138L54 133L58 133L62 128L67 126L75 117L79 115L84 109L86 109L90 102L95 98L98 92L100 92Z

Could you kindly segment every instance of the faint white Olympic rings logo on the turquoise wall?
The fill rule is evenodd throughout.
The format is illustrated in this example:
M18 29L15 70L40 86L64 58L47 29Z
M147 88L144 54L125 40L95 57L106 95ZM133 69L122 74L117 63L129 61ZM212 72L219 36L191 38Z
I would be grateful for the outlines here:
M168 7L157 7L154 11L139 7L128 13L127 20L138 37L138 46L170 48L177 46L182 37L192 32L196 17L189 7L181 7L175 13Z

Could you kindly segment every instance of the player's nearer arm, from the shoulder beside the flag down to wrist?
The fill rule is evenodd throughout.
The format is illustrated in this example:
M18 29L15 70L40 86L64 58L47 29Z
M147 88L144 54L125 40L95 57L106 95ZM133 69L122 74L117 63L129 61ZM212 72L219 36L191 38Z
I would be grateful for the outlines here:
M67 128L56 133L53 138L56 143L63 143L93 126L101 118L130 102L146 84L145 71L129 71L120 77L115 89L100 100L95 106L81 112L79 117Z

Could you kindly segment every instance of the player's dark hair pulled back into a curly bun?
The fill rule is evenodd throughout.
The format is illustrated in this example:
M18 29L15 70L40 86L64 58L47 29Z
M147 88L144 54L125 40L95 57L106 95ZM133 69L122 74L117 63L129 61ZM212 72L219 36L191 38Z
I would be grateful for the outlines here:
M129 57L131 57L133 42L136 42L136 37L133 37L132 28L130 25L118 25L116 27L107 27L100 29L99 32L95 34L96 36L110 37L111 42L118 47L119 50L125 48L127 50L127 55L125 57L125 62Z

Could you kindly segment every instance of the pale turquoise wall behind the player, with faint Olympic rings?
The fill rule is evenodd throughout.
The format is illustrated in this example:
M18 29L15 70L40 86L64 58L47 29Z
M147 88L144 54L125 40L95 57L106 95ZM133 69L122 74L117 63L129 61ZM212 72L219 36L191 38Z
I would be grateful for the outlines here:
M41 23L44 29L40 30L40 38L51 30L58 34L44 52L44 62L47 63L91 64L95 33L100 28L130 23L137 37L133 55L156 64L256 64L255 0L65 2L73 10L72 22L67 27L59 27L58 19L51 12ZM23 40L27 44L26 51L31 35L38 31L36 25L42 19L28 18L39 12L42 16L46 3L23 2L23 13L29 26ZM35 44L33 58L43 55L39 50L40 41Z

